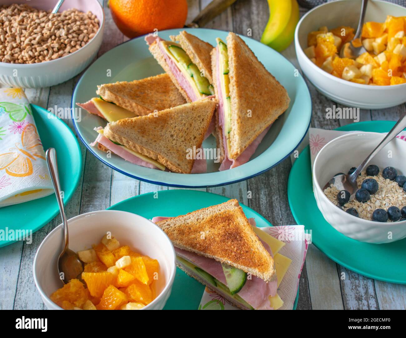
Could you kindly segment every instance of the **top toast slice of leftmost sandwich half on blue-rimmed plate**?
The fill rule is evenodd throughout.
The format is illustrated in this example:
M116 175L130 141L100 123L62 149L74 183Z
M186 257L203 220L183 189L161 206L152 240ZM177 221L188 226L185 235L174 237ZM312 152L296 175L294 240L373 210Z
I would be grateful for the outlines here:
M168 74L131 82L108 83L97 88L96 93L103 100L114 102L139 116L186 103Z

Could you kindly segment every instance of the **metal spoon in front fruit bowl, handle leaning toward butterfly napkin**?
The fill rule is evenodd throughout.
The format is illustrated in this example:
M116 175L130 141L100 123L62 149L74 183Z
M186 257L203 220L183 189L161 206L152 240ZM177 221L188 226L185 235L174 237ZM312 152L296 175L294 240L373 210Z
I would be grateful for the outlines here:
M71 279L80 277L83 272L83 264L76 252L69 249L68 222L63 207L63 198L60 190L58 164L56 163L56 150L49 148L46 152L48 168L50 169L52 183L55 188L55 195L59 205L60 216L62 217L62 228L64 233L64 248L58 258L58 271L60 280L67 284ZM80 279L80 278L79 278Z

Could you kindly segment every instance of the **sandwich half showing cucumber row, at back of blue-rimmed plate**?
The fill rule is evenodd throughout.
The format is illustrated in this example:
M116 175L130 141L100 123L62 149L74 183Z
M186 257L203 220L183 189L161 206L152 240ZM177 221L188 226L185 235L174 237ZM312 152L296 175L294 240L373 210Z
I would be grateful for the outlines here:
M210 52L213 46L186 31L165 41L149 34L149 51L168 74L187 102L214 94ZM179 43L175 42L179 41Z

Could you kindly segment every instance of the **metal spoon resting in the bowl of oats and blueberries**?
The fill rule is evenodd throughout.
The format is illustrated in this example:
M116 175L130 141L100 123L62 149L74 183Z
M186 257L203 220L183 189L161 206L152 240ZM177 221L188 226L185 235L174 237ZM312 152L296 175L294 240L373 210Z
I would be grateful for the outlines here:
M365 158L365 160L358 166L358 168L350 175L337 175L331 178L328 183L324 186L324 189L333 184L338 190L346 190L350 193L350 201L354 199L355 193L358 190L358 184L356 182L356 178L358 177L359 173L363 171L365 166L368 162L376 155L378 152L387 145L397 134L399 134L402 130L406 128L406 113L397 121L395 126L393 126L392 130L386 135L386 137L378 144L378 146Z

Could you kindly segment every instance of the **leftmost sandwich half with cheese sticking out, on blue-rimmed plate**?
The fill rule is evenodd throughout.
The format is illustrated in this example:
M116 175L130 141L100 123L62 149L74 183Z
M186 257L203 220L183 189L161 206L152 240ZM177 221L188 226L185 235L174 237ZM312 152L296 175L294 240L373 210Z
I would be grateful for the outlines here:
M186 102L167 74L108 83L97 88L100 98L77 105L108 122L148 115Z

